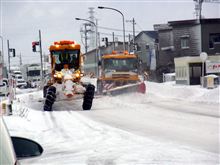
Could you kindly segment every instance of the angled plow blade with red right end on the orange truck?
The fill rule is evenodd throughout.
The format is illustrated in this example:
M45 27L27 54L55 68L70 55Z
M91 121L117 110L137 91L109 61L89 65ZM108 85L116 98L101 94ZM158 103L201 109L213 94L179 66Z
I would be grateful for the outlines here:
M138 83L138 84L129 84L121 87L116 87L113 89L109 89L106 91L103 91L104 95L120 95L124 93L143 93L146 92L146 86L144 82Z

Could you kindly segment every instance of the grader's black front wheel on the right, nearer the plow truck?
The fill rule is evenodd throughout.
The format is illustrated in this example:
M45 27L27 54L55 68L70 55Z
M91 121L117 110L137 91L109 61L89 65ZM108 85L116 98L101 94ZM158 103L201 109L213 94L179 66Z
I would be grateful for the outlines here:
M83 110L90 110L91 109L92 101L94 98L94 93L95 93L95 86L92 84L89 84L86 88L85 93L84 93L83 105L82 105Z

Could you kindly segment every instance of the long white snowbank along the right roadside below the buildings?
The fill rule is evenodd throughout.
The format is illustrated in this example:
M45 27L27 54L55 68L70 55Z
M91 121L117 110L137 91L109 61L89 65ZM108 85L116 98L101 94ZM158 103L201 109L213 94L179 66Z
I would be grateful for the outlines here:
M214 89L206 89L199 85L177 85L175 82L146 82L146 87L148 95L161 99L219 103L219 86Z

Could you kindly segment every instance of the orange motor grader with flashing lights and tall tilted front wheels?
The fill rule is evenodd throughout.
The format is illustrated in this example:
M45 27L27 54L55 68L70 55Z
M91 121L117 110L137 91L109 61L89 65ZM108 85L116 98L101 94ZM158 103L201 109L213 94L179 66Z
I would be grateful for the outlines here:
M74 41L54 42L50 46L51 76L43 88L44 111L52 111L59 100L83 98L83 110L92 107L95 86L81 82L83 55Z

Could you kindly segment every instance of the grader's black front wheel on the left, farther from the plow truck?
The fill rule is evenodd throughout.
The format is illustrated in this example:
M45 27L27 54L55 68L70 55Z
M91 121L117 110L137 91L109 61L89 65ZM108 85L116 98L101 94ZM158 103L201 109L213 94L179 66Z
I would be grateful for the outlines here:
M52 105L56 100L56 88L49 86L47 89L46 99L44 103L44 111L52 111Z

